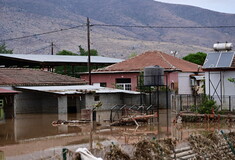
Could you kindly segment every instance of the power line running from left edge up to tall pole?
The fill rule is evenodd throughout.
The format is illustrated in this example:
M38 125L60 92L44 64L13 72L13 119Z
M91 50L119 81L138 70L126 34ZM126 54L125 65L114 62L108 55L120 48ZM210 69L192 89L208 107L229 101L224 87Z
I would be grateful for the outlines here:
M46 34L51 34L51 33L71 30L71 29L76 29L76 28L84 27L84 26L85 25L78 25L78 26L74 26L74 27L70 27L70 28L62 28L62 29L59 29L59 30L54 30L54 31L49 31L49 32L44 32L44 33L36 33L36 34L22 36L22 37L9 38L9 39L0 40L0 42L13 41L13 40L18 40L18 39L23 39L23 38L30 38L30 37L34 37L34 36L41 36L41 35L46 35Z

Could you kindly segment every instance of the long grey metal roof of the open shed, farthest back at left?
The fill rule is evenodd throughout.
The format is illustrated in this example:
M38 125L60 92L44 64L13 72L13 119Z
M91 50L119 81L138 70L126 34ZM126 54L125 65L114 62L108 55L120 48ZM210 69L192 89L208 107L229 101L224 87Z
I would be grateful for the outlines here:
M63 63L87 63L88 56L64 56L64 55L33 55L33 54L0 54L0 57L22 59L35 62L63 62ZM91 63L118 63L123 59L102 56L91 56Z

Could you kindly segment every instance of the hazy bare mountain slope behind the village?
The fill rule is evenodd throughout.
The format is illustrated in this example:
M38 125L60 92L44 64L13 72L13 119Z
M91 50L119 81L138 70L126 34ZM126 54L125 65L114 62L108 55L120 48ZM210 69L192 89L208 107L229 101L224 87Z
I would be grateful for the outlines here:
M234 26L235 14L153 0L0 0L0 17L0 40L82 25L6 41L8 48L19 54L51 54L51 42L55 45L54 52L62 49L78 52L79 45L86 48L87 17L94 25L90 33L91 48L109 57L127 58L131 53L148 50L178 51L182 57L207 52L218 41L234 42L235 39L235 28L174 28Z

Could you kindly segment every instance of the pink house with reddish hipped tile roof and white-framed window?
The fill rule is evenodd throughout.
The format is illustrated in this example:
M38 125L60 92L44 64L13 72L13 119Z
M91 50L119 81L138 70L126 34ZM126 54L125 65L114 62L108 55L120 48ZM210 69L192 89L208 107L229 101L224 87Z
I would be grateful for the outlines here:
M103 87L137 90L138 76L148 66L160 66L165 69L168 86L179 94L191 94L190 75L201 72L197 64L179 59L160 51L148 51L126 61L92 71L91 83ZM81 75L88 81L88 74Z

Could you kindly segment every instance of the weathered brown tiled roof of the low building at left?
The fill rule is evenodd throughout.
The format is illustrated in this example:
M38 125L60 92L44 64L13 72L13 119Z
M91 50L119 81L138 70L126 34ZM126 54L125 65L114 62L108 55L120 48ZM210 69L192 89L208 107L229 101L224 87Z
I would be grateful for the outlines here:
M26 68L0 68L1 86L79 85L85 81L48 71Z

